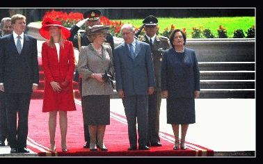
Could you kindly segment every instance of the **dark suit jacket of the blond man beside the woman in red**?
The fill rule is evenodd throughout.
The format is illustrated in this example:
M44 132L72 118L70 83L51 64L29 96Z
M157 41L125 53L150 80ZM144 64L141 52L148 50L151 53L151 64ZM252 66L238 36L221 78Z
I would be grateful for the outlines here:
M13 33L0 38L0 83L5 92L30 93L33 83L38 83L37 40L24 34L21 54L15 47Z

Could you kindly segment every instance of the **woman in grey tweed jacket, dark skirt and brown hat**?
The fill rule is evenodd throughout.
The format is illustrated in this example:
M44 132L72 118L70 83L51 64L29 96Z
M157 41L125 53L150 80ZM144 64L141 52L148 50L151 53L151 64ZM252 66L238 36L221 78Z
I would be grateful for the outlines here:
M105 71L113 75L113 56L110 46L103 43L109 26L95 25L86 29L90 40L88 46L81 47L77 69L82 76L83 108L86 110L90 133L90 151L107 151L103 138L106 125L110 124L110 95L113 87L104 80Z

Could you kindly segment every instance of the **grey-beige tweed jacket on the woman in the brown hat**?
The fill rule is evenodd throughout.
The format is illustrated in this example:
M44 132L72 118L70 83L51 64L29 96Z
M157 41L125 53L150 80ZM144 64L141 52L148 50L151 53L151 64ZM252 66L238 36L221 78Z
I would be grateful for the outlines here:
M105 71L113 75L114 67L111 47L108 45L102 46L102 56L97 54L97 51L93 49L91 44L81 47L77 69L82 76L82 96L113 94L111 83L99 82L89 77L93 73L104 74Z

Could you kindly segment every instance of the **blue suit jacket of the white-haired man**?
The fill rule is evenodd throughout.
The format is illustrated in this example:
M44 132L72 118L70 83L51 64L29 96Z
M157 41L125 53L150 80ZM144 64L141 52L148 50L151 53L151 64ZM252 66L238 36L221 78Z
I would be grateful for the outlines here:
M125 42L113 54L116 88L123 90L125 96L148 95L148 88L155 86L150 45L136 40L135 54L133 60Z

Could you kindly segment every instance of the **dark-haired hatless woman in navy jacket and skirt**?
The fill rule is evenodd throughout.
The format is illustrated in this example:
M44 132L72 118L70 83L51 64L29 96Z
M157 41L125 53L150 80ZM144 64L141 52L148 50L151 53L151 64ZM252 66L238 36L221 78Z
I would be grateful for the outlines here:
M200 72L193 49L185 47L186 34L176 29L170 35L170 48L161 63L161 90L167 99L167 123L175 135L174 150L186 149L185 137L189 124L196 123L195 98L200 95ZM179 125L181 124L181 140Z

